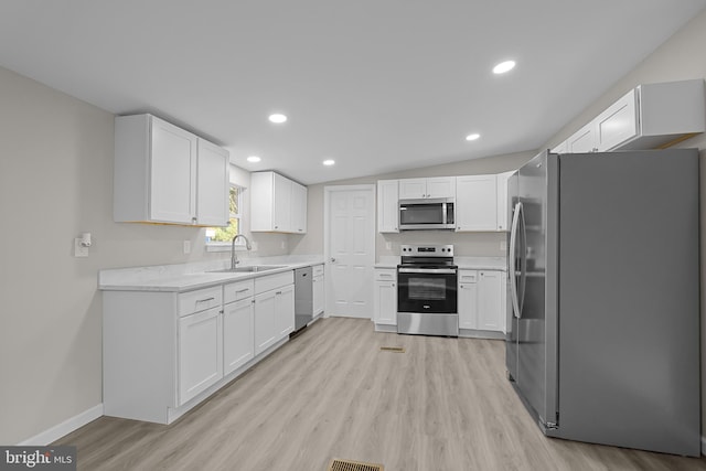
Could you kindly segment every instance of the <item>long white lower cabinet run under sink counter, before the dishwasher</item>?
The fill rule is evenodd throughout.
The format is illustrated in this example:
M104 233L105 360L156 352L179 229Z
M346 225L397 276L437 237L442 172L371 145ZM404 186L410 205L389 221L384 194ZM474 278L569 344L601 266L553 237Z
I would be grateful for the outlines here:
M185 292L105 290L104 414L176 420L286 341L293 280L288 270Z

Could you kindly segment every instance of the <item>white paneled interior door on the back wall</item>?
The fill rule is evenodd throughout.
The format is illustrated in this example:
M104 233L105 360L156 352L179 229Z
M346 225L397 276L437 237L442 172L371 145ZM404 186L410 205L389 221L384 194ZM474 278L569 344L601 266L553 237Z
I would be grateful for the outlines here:
M327 312L372 319L375 188L342 185L324 190Z

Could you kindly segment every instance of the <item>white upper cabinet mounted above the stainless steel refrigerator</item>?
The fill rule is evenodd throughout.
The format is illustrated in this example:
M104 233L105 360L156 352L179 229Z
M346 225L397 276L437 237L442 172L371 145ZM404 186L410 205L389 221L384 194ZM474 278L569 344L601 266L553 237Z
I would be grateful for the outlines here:
M668 147L706 131L704 81L640 85L552 151L605 152Z

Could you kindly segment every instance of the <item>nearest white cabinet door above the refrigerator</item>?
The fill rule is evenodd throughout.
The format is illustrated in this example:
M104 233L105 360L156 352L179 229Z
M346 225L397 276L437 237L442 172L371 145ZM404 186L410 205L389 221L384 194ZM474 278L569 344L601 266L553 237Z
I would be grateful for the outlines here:
M638 107L634 88L613 103L596 121L596 140L599 152L611 150L638 136Z

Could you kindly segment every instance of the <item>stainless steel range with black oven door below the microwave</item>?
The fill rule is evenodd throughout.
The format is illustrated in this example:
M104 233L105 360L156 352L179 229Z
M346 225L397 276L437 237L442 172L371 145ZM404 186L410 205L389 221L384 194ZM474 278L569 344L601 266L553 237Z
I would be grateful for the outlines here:
M452 245L403 245L397 266L397 333L459 335Z

